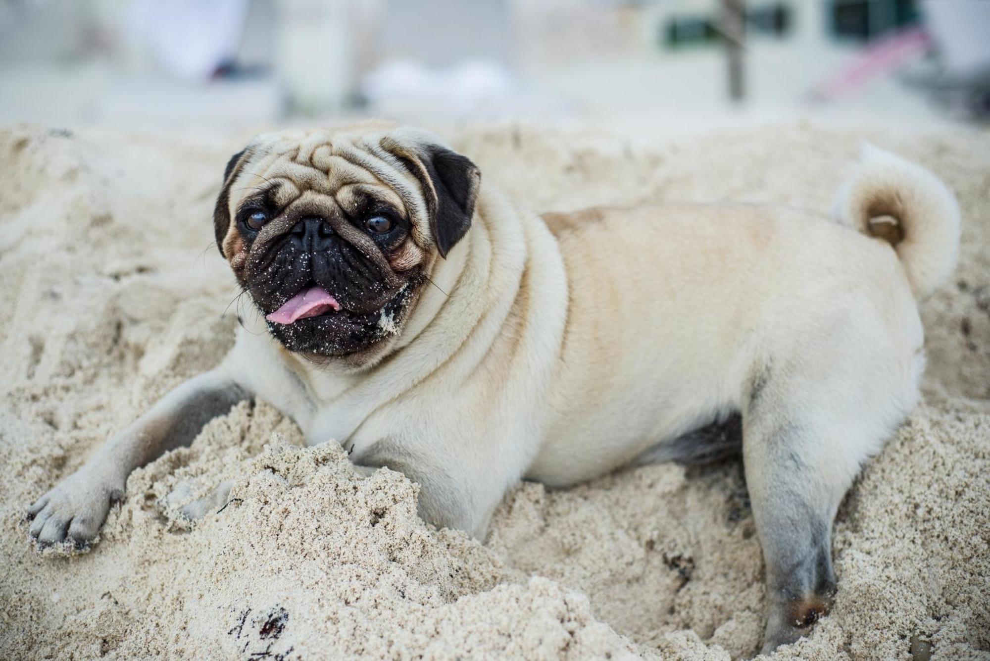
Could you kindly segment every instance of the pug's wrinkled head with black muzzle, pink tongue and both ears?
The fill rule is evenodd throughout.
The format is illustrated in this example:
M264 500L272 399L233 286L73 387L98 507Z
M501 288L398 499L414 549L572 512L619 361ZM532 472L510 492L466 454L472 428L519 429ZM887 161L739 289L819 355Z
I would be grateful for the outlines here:
M466 234L479 180L426 132L261 136L228 163L217 244L286 348L358 366L387 352L437 257Z

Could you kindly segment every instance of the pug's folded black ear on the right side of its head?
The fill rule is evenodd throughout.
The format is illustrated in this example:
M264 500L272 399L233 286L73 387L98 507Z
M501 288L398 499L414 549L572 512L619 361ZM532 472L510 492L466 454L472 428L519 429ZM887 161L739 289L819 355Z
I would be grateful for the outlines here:
M386 139L382 145L419 179L437 250L446 257L471 227L481 170L467 156L440 144L425 143L410 150Z

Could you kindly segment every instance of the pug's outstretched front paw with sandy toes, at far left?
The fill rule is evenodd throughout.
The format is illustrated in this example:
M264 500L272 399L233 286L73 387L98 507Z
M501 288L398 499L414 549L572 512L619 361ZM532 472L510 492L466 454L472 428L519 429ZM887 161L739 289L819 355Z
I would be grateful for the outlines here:
M111 506L123 498L123 479L83 466L28 508L31 536L39 548L67 544L86 550Z

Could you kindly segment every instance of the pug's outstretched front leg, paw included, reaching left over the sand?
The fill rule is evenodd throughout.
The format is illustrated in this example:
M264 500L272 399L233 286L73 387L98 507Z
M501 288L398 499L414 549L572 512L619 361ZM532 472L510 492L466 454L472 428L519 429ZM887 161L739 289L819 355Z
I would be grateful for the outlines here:
M190 379L165 395L137 422L111 438L75 473L28 510L39 545L70 541L88 546L110 507L124 496L131 472L163 452L188 445L211 420L249 398L222 368Z

